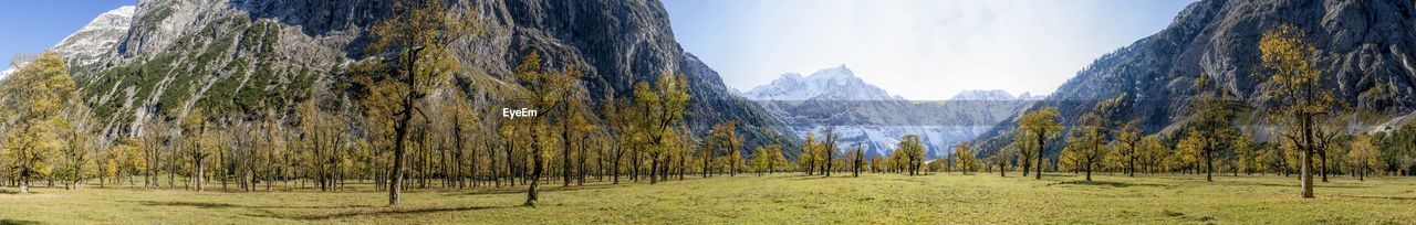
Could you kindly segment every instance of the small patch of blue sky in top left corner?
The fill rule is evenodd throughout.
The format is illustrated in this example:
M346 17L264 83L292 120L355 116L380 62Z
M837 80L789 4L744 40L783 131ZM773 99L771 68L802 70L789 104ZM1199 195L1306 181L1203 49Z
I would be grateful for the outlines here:
M14 54L37 54L93 21L137 0L14 0L0 7L0 69Z

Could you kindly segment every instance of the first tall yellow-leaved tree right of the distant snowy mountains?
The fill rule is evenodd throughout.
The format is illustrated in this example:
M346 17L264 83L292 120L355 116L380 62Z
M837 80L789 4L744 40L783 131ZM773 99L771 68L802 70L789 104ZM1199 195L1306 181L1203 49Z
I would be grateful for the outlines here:
M1056 120L1061 117L1054 108L1042 108L1018 119L1018 129L1014 133L1014 142L1029 142L1027 146L1032 147L1032 153L1037 153L1037 180L1042 180L1042 164L1044 156L1046 156L1046 142L1058 136L1062 132L1062 125Z

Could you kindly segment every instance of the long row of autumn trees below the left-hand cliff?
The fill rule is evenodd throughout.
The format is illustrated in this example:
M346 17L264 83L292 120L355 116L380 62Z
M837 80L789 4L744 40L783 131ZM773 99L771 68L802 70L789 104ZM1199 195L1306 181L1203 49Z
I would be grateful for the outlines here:
M479 35L474 20L466 18L476 13L449 7L395 3L396 13L371 28L365 50L372 57L350 64L336 79L316 81L309 93L290 100L296 103L232 115L205 113L211 110L197 103L177 115L139 117L132 133L93 126L85 103L72 96L64 59L44 54L8 78L0 93L6 103L0 177L21 192L35 178L67 187L98 180L103 187L125 180L136 185L135 177L142 177L144 188L181 183L195 191L212 183L224 191L336 191L372 183L389 192L391 205L406 190L527 185L525 204L534 205L538 185L554 180L658 183L694 173L697 161L743 157L743 140L731 122L704 140L688 132L683 75L664 72L634 83L632 98L610 93L599 103L590 103L579 67L548 69L556 62L535 51L513 69L515 85L467 75L453 48L462 37ZM496 110L491 100L541 115L503 119L481 112ZM759 151L780 153L780 146ZM756 157L767 173L786 164L782 154ZM732 175L746 167L728 166Z

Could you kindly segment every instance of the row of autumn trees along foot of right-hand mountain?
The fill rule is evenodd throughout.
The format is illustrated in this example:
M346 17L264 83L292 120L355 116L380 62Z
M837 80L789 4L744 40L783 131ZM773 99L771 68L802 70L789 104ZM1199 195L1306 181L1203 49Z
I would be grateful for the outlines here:
M1185 123L1168 136L1147 136L1140 122L1116 120L1119 106L1127 100L1123 95L1096 103L1072 126L1063 126L1052 108L1028 112L1018 119L1014 143L993 160L1000 168L1015 161L1024 175L1034 167L1041 178L1048 144L1066 134L1054 168L1085 173L1087 181L1093 171L1204 173L1209 181L1218 171L1297 173L1301 197L1311 198L1314 174L1323 181L1328 174L1352 174L1359 180L1372 174L1409 174L1416 163L1406 132L1412 126L1376 134L1341 126L1342 102L1323 85L1331 78L1317 69L1315 48L1306 40L1291 25L1263 34L1259 50L1269 85L1262 89L1259 109L1238 103L1233 91L1202 74L1187 105ZM1255 123L1266 126L1253 127L1264 129L1240 129L1236 120L1246 110L1259 112L1262 120ZM1256 133L1270 137L1256 139Z

